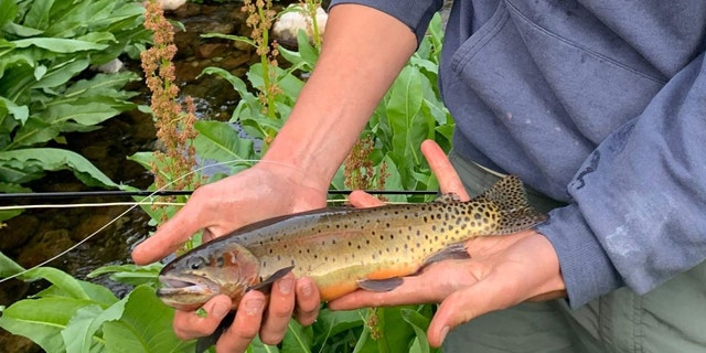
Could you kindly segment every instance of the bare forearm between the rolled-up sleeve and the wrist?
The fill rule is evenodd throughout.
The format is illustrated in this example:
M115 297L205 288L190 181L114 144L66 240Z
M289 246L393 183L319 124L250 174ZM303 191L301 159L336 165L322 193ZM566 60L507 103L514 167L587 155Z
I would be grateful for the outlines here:
M332 8L317 67L264 160L296 165L310 186L328 186L416 43L388 14Z

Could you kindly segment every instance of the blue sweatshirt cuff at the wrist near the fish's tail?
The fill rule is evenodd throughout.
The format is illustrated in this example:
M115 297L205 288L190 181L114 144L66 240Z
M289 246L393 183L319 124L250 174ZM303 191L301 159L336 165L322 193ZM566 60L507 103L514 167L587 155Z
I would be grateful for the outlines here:
M555 208L535 228L554 246L571 308L624 286L576 204Z

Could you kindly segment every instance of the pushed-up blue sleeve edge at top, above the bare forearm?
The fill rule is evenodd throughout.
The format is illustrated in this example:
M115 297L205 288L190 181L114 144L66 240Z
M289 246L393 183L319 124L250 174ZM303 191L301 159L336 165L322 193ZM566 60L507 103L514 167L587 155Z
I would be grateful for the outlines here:
M400 1L400 0L332 0L332 8L340 3L357 3L383 11L405 23L421 43L434 13L441 9L443 0Z

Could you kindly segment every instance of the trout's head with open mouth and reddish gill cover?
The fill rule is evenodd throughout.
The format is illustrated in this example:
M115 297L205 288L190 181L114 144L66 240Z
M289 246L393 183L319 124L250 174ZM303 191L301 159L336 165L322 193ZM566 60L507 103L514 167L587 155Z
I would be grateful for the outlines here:
M214 242L215 243L215 242ZM243 295L259 281L259 260L238 244L204 244L160 271L157 290L165 304L195 310L217 295L225 295L237 308Z

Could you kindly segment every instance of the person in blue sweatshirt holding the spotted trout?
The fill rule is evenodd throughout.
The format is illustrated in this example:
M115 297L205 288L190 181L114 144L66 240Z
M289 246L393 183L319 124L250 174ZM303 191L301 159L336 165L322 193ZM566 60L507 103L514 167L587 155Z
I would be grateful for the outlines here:
M208 239L323 206L441 2L332 1L320 61L263 162L199 189L135 261L158 260L199 229ZM703 351L706 2L457 0L445 33L440 88L463 185L474 194L516 174L549 221L471 240L470 259L330 307L440 303L428 338L448 352ZM291 276L267 310L265 300L246 295L218 352L242 352L258 333L277 343L292 314L310 324L319 307L311 280ZM212 299L206 318L176 312L174 329L206 335L229 304Z

